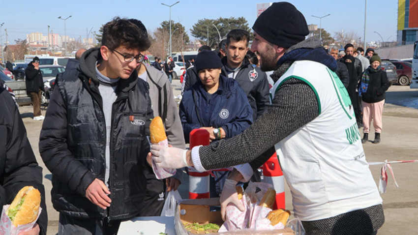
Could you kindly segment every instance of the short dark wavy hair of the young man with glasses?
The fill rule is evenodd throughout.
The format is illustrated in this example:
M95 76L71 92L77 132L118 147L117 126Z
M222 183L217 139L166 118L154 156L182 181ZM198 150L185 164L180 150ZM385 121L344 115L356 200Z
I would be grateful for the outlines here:
M146 51L151 46L147 29L144 27L144 33L131 20L115 17L112 21L106 23L103 27L102 46L106 46L109 50L124 46L127 49Z

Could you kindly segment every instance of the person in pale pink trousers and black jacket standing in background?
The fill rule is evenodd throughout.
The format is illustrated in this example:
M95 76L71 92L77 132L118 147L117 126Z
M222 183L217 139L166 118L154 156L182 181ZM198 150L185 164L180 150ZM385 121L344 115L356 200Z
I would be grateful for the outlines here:
M385 104L386 90L390 87L386 72L380 67L382 59L377 54L370 58L370 67L368 67L361 76L358 94L361 97L363 106L363 138L361 143L367 143L370 133L370 123L373 119L375 137L372 143L380 143L380 134L382 133L383 105Z

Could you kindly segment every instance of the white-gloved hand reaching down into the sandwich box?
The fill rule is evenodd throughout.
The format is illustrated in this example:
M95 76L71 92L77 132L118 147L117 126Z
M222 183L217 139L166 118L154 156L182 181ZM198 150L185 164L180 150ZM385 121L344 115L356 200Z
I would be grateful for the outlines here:
M237 208L240 211L244 211L244 209L245 209L245 206L242 205L240 200L238 200L237 189L235 189L236 186L237 186L237 181L235 181L233 179L226 179L225 180L225 184L224 184L224 187L222 189L221 197L219 199L219 201L221 203L221 215L222 215L222 219L224 221L225 221L226 206L228 206L228 204L230 204L230 203L234 204L235 206L237 206Z

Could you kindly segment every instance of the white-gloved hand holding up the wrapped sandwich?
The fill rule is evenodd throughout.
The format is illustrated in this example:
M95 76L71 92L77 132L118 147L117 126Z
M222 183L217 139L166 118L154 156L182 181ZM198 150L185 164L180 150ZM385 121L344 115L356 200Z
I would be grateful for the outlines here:
M166 169L187 167L186 152L187 150L177 147L151 145L152 161L158 167Z

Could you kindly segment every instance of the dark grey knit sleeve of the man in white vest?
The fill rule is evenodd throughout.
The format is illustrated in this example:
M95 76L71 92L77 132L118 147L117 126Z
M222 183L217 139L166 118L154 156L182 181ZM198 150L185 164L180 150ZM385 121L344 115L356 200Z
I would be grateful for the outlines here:
M261 117L241 134L199 148L204 169L218 169L250 163L257 169L274 153L274 145L316 118L316 95L303 81L292 78L277 91Z

